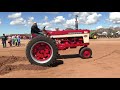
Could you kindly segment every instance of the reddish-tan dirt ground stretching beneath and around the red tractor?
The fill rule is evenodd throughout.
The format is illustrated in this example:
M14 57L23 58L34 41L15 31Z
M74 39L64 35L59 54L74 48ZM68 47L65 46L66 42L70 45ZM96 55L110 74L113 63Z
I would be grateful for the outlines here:
M120 39L91 40L93 51L90 59L78 57L79 48L60 51L55 67L31 65L25 57L23 40L21 47L2 48L0 45L0 78L119 78ZM67 54L67 55L66 55Z

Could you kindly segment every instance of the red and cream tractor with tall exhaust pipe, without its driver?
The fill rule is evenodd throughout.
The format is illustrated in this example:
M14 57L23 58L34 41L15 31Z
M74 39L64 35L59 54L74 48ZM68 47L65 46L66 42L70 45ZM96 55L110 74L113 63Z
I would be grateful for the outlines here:
M50 66L58 56L59 50L81 46L78 53L83 59L91 58L92 50L88 48L90 30L78 29L77 17L75 30L44 30L44 36L32 34L33 39L26 47L26 56L31 64Z

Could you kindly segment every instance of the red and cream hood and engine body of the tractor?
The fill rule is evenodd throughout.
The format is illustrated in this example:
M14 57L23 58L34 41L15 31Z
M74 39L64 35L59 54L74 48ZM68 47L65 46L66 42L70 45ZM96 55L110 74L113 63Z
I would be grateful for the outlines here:
M89 30L47 31L47 35L55 40L58 50L89 45Z

